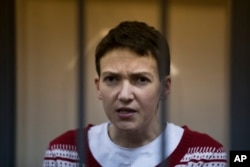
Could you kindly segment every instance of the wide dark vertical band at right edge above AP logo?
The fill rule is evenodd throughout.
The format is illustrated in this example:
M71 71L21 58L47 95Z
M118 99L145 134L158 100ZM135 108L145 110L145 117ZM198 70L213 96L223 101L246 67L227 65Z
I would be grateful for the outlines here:
M230 7L230 149L250 150L250 1Z

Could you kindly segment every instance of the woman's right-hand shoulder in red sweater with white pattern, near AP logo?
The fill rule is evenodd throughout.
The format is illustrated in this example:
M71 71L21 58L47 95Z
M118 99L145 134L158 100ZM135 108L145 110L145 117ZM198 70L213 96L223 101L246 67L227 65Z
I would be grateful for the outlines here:
M190 130L184 126L184 134L179 144L183 156L181 165L226 166L227 155L223 145L205 133Z

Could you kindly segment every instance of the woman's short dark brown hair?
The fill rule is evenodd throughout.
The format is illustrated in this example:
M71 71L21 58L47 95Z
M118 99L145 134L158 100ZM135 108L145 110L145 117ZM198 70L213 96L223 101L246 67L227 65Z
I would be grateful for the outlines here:
M99 76L101 58L117 48L128 48L140 56L151 53L157 61L160 79L170 73L170 53L165 37L144 22L121 22L99 42L95 50L95 66Z

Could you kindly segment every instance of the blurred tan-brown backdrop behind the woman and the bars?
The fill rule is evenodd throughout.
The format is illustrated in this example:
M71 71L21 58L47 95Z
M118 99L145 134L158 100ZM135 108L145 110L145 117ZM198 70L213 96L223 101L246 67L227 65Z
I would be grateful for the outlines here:
M208 2L209 1L209 2ZM77 12L71 0L18 0L17 166L41 166L49 142L77 127ZM170 122L228 145L227 4L170 1ZM94 51L123 20L159 28L153 0L86 1L86 123L107 121L95 91Z

